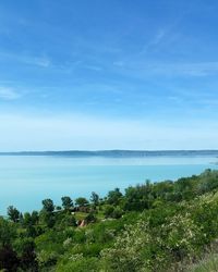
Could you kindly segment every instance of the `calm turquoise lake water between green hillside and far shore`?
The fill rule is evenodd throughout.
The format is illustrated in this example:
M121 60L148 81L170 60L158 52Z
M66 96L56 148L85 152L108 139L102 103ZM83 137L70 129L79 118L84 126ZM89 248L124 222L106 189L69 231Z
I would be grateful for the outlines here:
M146 158L68 158L43 156L0 157L0 213L15 206L21 211L41 208L41 200L62 196L89 198L92 191L105 196L108 190L129 185L175 180L218 169L215 157Z

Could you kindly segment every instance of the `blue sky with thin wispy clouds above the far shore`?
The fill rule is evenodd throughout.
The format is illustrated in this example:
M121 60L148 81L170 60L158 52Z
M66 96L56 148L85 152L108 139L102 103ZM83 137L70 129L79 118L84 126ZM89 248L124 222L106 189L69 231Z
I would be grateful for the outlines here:
M216 149L218 3L0 2L0 150Z

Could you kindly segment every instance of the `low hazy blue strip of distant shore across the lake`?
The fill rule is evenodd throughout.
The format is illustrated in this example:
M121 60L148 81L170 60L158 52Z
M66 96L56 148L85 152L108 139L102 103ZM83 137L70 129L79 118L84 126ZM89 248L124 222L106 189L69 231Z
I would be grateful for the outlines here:
M64 150L64 151L14 151L0 156L65 156L65 157L156 157L156 156L218 156L218 150Z

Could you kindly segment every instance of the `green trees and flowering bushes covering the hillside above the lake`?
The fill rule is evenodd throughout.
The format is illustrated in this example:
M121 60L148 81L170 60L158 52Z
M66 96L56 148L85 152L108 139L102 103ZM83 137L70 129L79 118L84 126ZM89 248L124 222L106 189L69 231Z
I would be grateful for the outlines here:
M25 213L8 208L0 218L0 270L218 270L218 171L61 201L44 199L40 211Z

